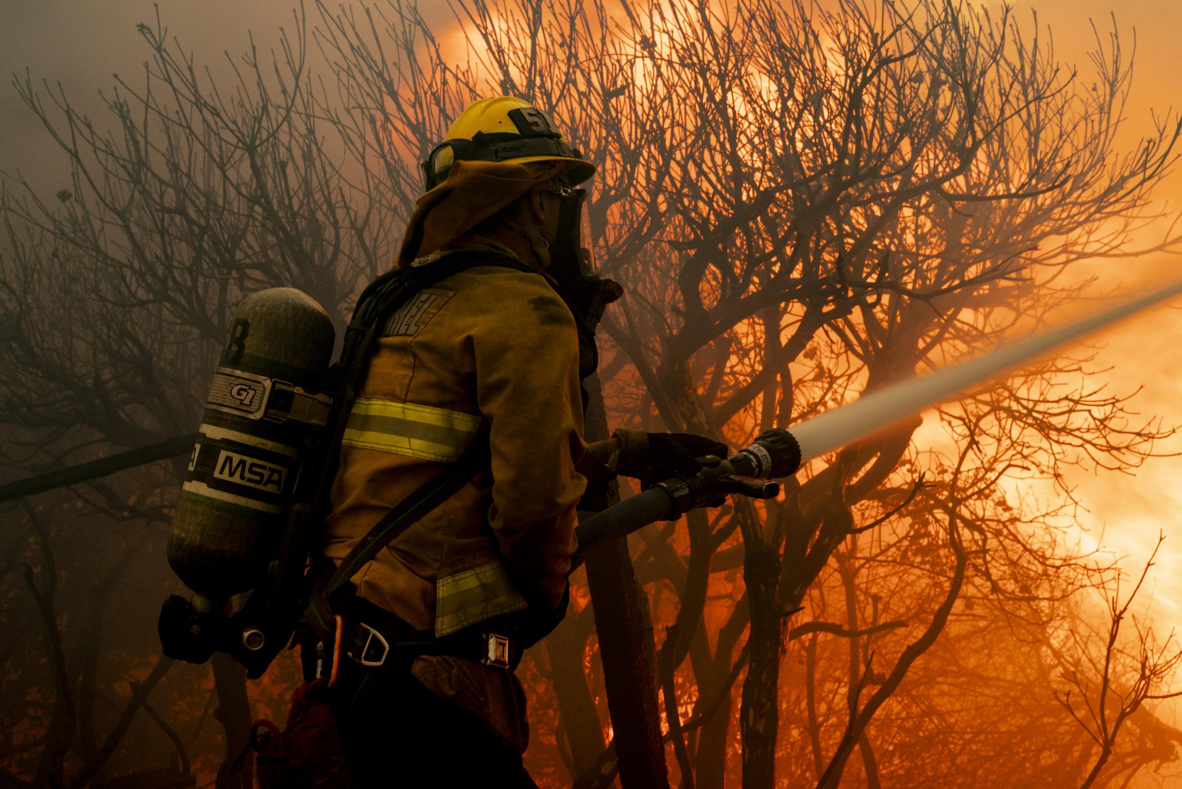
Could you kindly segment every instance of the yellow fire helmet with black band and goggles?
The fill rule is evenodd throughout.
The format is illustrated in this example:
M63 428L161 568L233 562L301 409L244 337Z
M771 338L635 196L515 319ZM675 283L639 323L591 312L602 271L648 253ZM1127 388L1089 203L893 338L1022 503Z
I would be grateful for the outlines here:
M513 96L482 98L460 114L447 130L446 140L423 162L427 190L447 179L454 162L473 160L514 164L567 162L563 175L571 185L595 174L595 164L566 144L541 110Z

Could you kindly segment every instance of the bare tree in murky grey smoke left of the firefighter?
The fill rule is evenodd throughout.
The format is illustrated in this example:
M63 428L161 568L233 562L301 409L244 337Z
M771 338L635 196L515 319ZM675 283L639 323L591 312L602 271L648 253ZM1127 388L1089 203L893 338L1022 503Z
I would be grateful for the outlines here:
M238 84L228 92L207 82L158 19L141 33L151 60L138 85L119 82L106 97L113 128L80 117L60 86L39 88L27 76L17 83L71 161L72 183L57 201L19 177L0 195L0 400L13 429L2 447L11 467L44 471L190 432L242 295L294 285L343 323L346 299L388 254L388 226L362 226L350 203L356 195L343 188L317 130L301 17L272 63L251 52L233 64ZM183 468L171 472L78 492L89 511L157 524L151 561L161 569L160 524ZM163 593L158 581L145 589L149 597ZM51 603L51 595L31 594L43 609ZM85 627L100 629L102 613L96 608ZM96 635L89 648L98 644ZM85 665L93 671L96 660ZM169 661L157 665L163 671ZM219 787L245 785L249 770L230 775L251 723L245 673L219 655L214 678L226 739ZM84 693L92 681L84 674ZM147 693L156 681L138 687ZM43 751L39 781L63 775L76 730L95 736L90 718L69 713L73 691L56 687L64 711L46 725L58 745ZM83 710L92 704L87 696ZM142 699L129 710L139 706ZM119 720L105 744L85 745L98 762L71 781L92 780L125 731Z

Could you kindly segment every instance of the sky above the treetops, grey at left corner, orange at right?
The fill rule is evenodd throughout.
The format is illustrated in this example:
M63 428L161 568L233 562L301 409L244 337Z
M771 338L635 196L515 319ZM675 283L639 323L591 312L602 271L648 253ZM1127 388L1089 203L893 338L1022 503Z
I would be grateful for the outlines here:
M20 169L39 187L59 188L67 167L39 122L12 88L15 73L27 72L34 84L60 83L80 111L108 125L99 90L110 90L112 73L131 84L142 82L149 52L136 31L138 22L155 24L156 8L170 35L180 39L199 63L225 69L223 52L246 51L248 31L262 47L272 45L280 26L292 28L292 11L300 0L0 0L0 170ZM362 0L348 0L359 8ZM381 9L390 0L371 2ZM408 0L414 4L416 0ZM304 0L309 19L316 17L312 0ZM330 8L337 1L327 0ZM439 31L456 24L447 0L417 0L418 11ZM986 0L996 11L1000 0ZM1056 53L1065 65L1078 65L1091 79L1086 50L1098 33L1108 39L1110 14L1122 28L1128 53L1134 31L1137 48L1136 89L1128 116L1132 129L1150 122L1148 110L1158 112L1182 104L1182 70L1177 67L1177 40L1182 37L1182 2L1178 0L1017 0L1014 14L1028 24L1038 11L1039 27L1053 35ZM513 4L509 4L513 7ZM1096 32L1092 24L1096 24ZM225 73L225 72L221 72ZM44 89L43 89L44 92ZM1135 136L1135 135L1134 135ZM1130 141L1131 142L1131 141ZM1177 183L1182 179L1171 179ZM1171 189L1174 190L1174 189ZM1182 189L1180 189L1182 192Z

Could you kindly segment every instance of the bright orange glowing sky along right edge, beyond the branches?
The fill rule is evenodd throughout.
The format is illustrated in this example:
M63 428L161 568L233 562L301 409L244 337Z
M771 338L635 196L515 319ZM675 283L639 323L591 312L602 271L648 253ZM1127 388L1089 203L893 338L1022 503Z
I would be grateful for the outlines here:
M1044 0L1019 2L1014 9L1018 14L1028 14L1032 8L1038 9L1040 24L1051 27L1060 60L1078 64L1079 78L1085 82L1090 79L1091 67L1086 51L1095 43L1090 20L1095 21L1099 34L1106 37L1112 24L1110 12L1116 12L1125 52L1131 51L1136 35L1134 83L1121 140L1123 148L1135 147L1139 137L1152 131L1155 115L1164 118L1182 109L1182 70L1177 67L1182 7L1177 4ZM1182 173L1177 167L1154 196L1151 211L1177 214L1182 208ZM1162 233L1164 224L1152 229ZM1143 237L1151 238L1149 232ZM1129 291L1156 289L1182 276L1176 259L1162 254L1139 260L1096 260L1083 264L1082 269L1097 276L1105 290L1118 285ZM1142 386L1134 409L1147 418L1158 415L1167 425L1182 425L1182 358L1176 351L1182 331L1180 310L1182 304L1177 303L1155 309L1089 342L1097 348L1097 366L1111 368L1096 377L1115 393ZM1182 439L1163 442L1158 450L1182 452ZM1130 571L1148 558L1157 532L1167 535L1152 576L1152 614L1157 627L1167 632L1182 625L1182 530L1176 525L1175 515L1182 506L1180 478L1182 458L1160 458L1147 463L1134 476L1079 472L1071 480L1089 510L1079 517L1086 529L1084 544L1126 556Z

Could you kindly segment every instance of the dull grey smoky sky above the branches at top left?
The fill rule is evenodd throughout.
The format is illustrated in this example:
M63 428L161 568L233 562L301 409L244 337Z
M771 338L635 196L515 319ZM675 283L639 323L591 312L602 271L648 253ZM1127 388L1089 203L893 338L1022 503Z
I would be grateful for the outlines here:
M20 101L13 76L22 80L27 72L46 102L47 90L60 84L73 106L105 128L108 111L98 92L110 93L116 73L143 84L150 51L137 25L156 25L157 6L169 35L216 76L228 71L225 53L240 57L252 33L266 50L280 27L294 30L299 0L0 0L0 172L20 170L39 190L67 186L66 159ZM311 0L305 9L311 22ZM436 28L454 24L442 0L423 0L420 11Z

